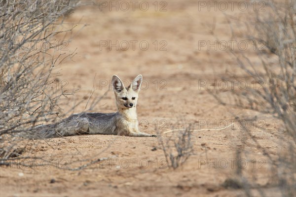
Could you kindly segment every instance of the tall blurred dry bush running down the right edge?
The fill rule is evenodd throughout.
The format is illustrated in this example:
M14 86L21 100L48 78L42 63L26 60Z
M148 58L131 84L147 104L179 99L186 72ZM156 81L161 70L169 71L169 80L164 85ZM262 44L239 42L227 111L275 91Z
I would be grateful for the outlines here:
M275 156L261 146L251 130L246 129L244 133L253 140L271 165L269 170L272 179L265 187L278 188L282 196L296 196L296 1L264 3L265 11L256 11L254 18L249 15L248 21L234 23L245 25L248 31L243 36L255 43L264 43L265 50L256 50L257 59L244 51L231 51L238 65L245 71L245 78L251 78L261 88L252 86L232 93L238 101L236 106L271 114L279 122L282 121L285 132L277 136L279 150ZM233 32L233 37L237 36L241 35ZM235 74L234 77L239 78ZM237 157L246 152L238 150ZM252 196L250 188L256 188L256 178L244 177L241 172L236 175L241 177L246 195ZM257 190L261 196L265 196L262 188L257 187Z

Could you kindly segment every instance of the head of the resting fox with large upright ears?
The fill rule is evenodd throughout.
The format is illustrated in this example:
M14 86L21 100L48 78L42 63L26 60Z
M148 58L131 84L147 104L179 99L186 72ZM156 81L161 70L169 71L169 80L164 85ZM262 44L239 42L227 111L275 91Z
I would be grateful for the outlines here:
M119 77L113 75L112 87L115 93L116 105L118 108L129 109L136 107L142 78L142 75L139 74L133 82L125 88Z

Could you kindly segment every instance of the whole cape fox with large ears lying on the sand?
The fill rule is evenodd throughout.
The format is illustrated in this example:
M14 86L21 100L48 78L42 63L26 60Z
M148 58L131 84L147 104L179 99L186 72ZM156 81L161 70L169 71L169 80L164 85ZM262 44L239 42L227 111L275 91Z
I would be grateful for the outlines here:
M124 87L120 78L112 77L112 89L115 94L117 112L115 113L78 113L62 123L38 126L30 138L52 138L77 134L113 134L134 137L155 137L156 135L140 132L136 106L142 75Z

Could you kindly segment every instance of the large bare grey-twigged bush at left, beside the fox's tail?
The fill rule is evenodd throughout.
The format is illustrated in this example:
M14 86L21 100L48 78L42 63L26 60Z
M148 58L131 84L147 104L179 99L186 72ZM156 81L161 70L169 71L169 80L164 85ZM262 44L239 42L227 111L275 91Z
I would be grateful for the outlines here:
M78 1L0 0L0 158L20 156L14 136L60 120L63 88L55 67L71 59L63 21ZM64 35L64 40L56 40ZM5 143L4 143L5 142Z

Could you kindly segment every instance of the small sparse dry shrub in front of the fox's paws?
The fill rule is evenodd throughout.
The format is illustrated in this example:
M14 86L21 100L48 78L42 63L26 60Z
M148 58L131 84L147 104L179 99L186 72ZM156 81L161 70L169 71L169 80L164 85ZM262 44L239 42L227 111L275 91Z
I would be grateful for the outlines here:
M158 143L164 153L169 168L176 169L193 155L192 131L192 126L189 125L184 130L174 132L176 133L175 136L170 135L169 137L164 137L157 132Z

